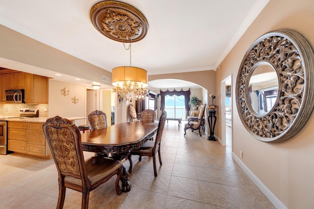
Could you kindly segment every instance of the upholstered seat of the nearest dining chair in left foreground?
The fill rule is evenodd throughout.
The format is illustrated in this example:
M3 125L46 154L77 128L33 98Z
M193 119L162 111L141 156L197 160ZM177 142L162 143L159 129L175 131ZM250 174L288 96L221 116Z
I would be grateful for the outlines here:
M108 158L99 158L98 160L99 162L97 164L92 163L92 158L85 161L87 177L91 186L103 180L105 177L110 176L110 174L115 172L121 166L121 162L118 160ZM82 181L73 176L65 176L64 181L82 186Z

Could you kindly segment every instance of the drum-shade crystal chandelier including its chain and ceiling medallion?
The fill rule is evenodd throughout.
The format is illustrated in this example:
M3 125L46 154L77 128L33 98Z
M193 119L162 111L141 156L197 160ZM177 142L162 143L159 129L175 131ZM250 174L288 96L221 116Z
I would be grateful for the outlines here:
M114 0L96 3L90 17L95 28L107 38L122 42L126 50L130 50L130 66L112 69L113 92L120 101L132 101L146 95L147 71L131 67L131 42L142 40L148 32L145 16L133 6ZM126 42L130 42L126 48Z

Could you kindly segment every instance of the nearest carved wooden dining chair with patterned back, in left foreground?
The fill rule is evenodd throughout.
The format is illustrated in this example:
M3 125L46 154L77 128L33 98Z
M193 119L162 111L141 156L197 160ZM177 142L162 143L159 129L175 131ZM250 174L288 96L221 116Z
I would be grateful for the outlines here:
M43 124L43 131L58 171L57 209L63 208L66 188L82 192L81 208L87 209L90 191L114 175L117 175L116 193L121 194L121 161L109 158L101 158L97 164L92 163L92 158L84 161L79 129L66 118L55 116L47 119Z

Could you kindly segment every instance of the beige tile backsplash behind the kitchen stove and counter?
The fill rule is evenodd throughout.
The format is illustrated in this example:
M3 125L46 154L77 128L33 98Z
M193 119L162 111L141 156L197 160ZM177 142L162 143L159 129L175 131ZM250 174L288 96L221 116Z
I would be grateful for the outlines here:
M0 104L0 116L20 116L22 108L36 108L39 111L39 117L48 117L48 104Z

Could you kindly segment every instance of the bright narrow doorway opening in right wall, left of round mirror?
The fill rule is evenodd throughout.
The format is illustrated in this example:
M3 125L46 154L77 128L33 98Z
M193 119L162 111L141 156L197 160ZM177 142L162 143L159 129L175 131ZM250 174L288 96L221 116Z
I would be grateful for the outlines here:
M232 153L232 75L229 75L221 82L221 144L226 146L228 151Z

